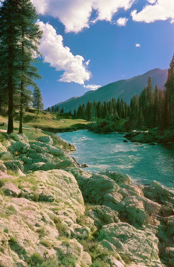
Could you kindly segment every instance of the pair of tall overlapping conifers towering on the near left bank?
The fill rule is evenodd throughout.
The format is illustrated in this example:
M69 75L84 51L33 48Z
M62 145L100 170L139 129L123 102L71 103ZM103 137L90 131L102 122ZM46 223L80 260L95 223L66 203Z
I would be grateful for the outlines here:
M0 1L0 113L8 111L7 133L13 132L13 117L20 113L22 133L23 112L27 106L43 109L43 100L35 79L41 79L34 66L42 32L30 0ZM29 87L33 87L32 96Z

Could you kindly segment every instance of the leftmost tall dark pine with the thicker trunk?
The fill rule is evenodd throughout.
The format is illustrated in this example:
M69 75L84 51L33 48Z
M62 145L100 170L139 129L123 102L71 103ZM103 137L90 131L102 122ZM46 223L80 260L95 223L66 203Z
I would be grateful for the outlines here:
M8 95L8 134L13 132L13 99L20 76L17 7L18 3L15 0L5 0L0 7L0 81Z

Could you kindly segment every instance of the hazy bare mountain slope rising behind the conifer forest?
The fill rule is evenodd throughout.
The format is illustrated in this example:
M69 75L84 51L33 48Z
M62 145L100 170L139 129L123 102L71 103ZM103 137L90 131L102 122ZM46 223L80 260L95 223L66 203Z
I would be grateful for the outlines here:
M79 104L87 104L89 101L101 101L101 103L105 100L106 102L110 100L110 98L114 97L115 99L119 98L123 99L127 103L130 102L131 98L134 94L139 94L147 84L147 79L151 76L152 79L152 87L157 86L164 89L164 84L167 79L168 69L161 70L159 68L155 68L153 70L149 70L147 73L143 75L139 75L127 80L120 80L114 83L109 83L100 87L95 91L88 91L83 96L80 97L72 97L64 102L60 102L60 108L64 107L64 112L68 112L71 110L74 112L74 108L78 109Z

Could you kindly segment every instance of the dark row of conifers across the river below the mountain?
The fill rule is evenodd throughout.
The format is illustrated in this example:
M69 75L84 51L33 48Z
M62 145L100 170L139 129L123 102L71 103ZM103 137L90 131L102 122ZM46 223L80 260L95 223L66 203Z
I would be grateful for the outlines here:
M51 112L64 113L64 108L57 105L47 109ZM72 114L72 111L69 111ZM152 88L151 77L149 76L147 85L138 94L131 98L130 104L118 97L110 99L107 103L103 101L87 102L87 105L79 104L78 110L74 108L74 117L82 117L87 120L92 118L106 119L108 115L113 115L117 119L124 119L128 126L141 128L167 128L174 127L174 54L170 62L165 90L161 90L155 85Z

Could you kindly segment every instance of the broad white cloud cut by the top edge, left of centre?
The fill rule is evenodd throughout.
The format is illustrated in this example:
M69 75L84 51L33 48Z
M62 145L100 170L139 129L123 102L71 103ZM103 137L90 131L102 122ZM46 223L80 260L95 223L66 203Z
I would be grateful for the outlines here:
M120 8L129 9L135 0L31 0L38 14L49 14L65 25L65 32L78 33L89 28L92 10L97 20L112 20Z

